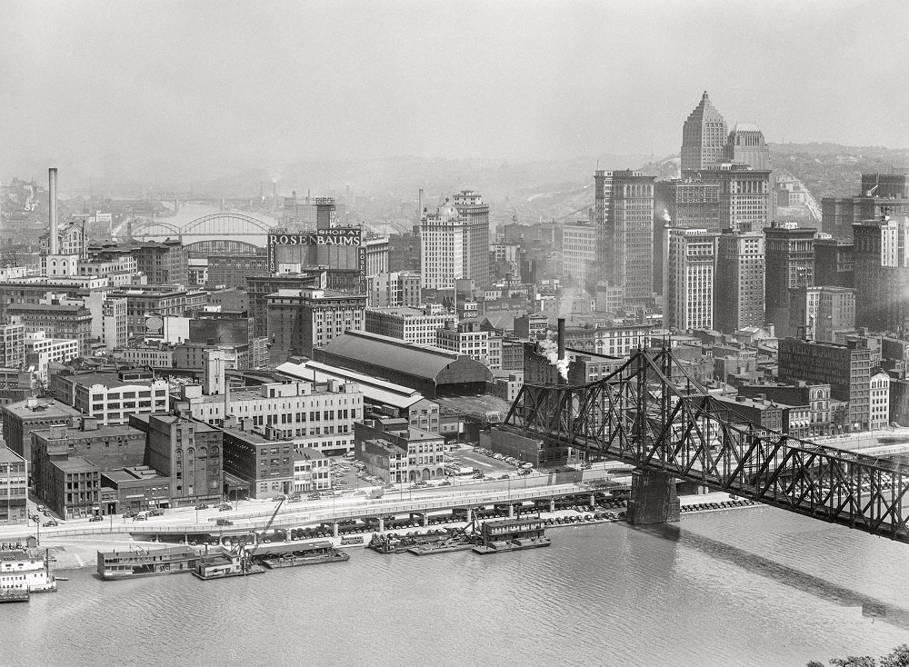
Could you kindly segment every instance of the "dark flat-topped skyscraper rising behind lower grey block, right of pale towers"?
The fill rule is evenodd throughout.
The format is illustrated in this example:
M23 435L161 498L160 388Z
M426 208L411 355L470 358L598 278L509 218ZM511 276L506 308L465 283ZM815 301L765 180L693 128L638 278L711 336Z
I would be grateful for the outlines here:
M774 324L776 335L789 331L789 290L814 286L814 227L800 229L795 223L772 223L764 228L766 239L766 279L764 304L767 324Z

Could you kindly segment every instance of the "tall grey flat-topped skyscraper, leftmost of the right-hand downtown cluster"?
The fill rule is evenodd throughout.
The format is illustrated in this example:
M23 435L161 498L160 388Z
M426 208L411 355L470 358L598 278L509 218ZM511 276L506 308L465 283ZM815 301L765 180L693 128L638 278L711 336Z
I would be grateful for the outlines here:
M654 176L594 173L594 228L601 279L624 286L626 304L654 294Z

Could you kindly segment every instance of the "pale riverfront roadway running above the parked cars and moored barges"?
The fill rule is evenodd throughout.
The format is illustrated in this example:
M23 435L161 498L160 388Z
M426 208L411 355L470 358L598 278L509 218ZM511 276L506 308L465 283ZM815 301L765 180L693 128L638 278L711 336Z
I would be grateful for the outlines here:
M515 481L516 482L516 481ZM528 500L553 499L558 496L580 493L594 493L601 491L600 488L594 488L586 483L560 483L546 486L531 486L510 489L480 489L472 491L458 492L438 492L427 493L418 498L399 498L391 499L389 496L376 499L367 499L364 496L343 496L331 500L321 500L298 505L297 503L287 504L285 508L278 513L275 521L272 523L273 528L300 528L307 525L318 525L321 523L336 523L348 519L365 519L369 517L388 518L396 514L424 514L433 512L443 512L445 510L454 510L456 508L477 508L490 504L521 503ZM407 492L409 494L409 492ZM392 495L395 495L393 493ZM334 503L333 503L334 500ZM314 504L318 503L317 507ZM42 528L41 536L46 538L58 537L88 537L112 534L185 534L185 533L209 533L219 535L245 534L250 531L261 530L268 523L271 515L275 512L273 508L268 511L256 513L235 513L225 512L218 513L207 517L205 522L194 523L175 523L175 520L182 519L180 510L172 511L163 517L153 517L144 522L131 523L86 523L85 527L70 528L64 525L55 528ZM186 512L186 514L190 514ZM191 515L191 514L190 514ZM217 519L225 518L234 522L232 526L216 525ZM18 529L9 530L9 529ZM34 534L32 529L24 529L23 526L7 526L3 531L4 539L16 539L27 534Z

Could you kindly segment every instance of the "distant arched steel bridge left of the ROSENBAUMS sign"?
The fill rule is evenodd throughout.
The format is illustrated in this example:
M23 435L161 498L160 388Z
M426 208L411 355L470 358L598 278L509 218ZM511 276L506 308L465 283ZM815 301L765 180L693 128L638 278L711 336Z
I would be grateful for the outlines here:
M251 215L224 211L196 218L183 227L165 220L137 219L131 234L140 240L158 238L197 239L186 244L191 254L256 254L265 246L265 237L274 225ZM257 243L254 243L257 242Z

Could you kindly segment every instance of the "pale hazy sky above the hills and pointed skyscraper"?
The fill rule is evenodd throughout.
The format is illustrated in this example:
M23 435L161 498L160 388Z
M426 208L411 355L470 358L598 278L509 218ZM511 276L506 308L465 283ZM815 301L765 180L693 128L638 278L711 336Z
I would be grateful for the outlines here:
M0 0L0 178L335 154L678 152L707 90L771 142L909 147L909 3Z

